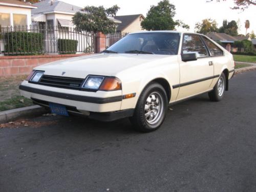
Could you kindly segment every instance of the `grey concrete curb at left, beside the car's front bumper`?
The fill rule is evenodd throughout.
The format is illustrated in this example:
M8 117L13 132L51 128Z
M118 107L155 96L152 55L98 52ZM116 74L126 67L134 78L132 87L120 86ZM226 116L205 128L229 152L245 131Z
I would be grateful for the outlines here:
M7 123L20 117L38 116L47 113L48 110L39 105L26 106L8 111L0 112L0 123Z

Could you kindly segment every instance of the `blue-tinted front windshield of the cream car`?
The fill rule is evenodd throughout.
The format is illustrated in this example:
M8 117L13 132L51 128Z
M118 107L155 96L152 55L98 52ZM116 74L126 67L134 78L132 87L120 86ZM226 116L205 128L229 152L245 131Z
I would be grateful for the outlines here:
M126 35L105 53L177 55L180 33L135 33Z

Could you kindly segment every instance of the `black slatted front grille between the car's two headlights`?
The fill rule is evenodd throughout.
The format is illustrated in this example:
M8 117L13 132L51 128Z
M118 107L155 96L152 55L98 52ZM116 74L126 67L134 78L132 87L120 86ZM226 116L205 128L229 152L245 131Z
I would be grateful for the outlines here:
M42 75L38 84L45 86L80 90L84 79Z

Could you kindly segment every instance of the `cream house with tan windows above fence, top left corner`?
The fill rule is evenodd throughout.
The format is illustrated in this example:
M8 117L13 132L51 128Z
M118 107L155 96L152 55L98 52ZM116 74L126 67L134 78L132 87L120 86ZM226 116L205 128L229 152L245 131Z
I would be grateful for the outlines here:
M17 0L0 0L0 25L2 27L30 26L31 10L36 6Z

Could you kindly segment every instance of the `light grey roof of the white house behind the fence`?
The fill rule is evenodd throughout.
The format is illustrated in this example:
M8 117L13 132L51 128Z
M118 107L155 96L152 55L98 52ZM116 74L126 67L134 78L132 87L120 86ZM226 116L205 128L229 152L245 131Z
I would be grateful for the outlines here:
M1 0L0 0L1 1ZM52 2L52 3L51 3ZM76 12L83 12L81 11L81 7L77 7L75 5L71 5L65 2L61 2L58 0L45 0L39 3L33 4L38 9L32 10L32 14L38 13L69 13L75 14ZM84 12L85 13L85 12Z

